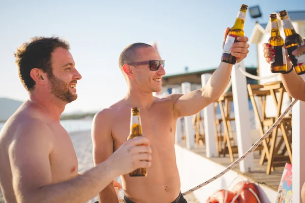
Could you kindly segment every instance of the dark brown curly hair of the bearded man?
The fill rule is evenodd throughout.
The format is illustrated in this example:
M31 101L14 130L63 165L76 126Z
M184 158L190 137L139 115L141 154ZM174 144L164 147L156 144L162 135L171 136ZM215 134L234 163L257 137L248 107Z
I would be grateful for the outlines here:
M18 66L19 78L27 91L34 89L35 81L30 73L32 69L41 69L48 76L52 76L51 54L55 48L62 47L69 50L70 45L58 37L34 37L30 42L23 43L14 53Z

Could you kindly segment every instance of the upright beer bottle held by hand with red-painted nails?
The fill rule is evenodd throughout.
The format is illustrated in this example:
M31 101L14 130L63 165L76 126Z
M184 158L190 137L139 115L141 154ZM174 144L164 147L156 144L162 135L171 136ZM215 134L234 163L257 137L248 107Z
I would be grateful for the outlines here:
M276 56L270 63L271 73L283 73L287 71L287 62L284 48L284 39L280 35L277 14L270 14L270 38L268 43L275 49Z

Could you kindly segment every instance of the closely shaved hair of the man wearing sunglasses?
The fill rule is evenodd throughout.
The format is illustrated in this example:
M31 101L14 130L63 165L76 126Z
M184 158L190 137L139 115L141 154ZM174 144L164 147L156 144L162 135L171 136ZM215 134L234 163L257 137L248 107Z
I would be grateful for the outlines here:
M140 48L146 48L146 47L153 47L151 45L145 44L145 43L134 43L131 45L128 45L120 54L118 59L118 66L121 72L123 71L123 65L136 62L137 60L137 50ZM125 77L125 75L124 75Z

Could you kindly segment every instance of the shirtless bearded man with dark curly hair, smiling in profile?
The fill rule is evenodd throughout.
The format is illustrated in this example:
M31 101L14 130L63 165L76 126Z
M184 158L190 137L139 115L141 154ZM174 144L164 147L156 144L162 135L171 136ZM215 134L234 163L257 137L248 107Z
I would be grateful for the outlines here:
M77 98L81 79L69 49L63 40L39 37L15 53L29 99L0 132L0 186L8 203L84 203L115 177L150 166L149 141L136 138L78 174L72 141L59 123L65 106Z

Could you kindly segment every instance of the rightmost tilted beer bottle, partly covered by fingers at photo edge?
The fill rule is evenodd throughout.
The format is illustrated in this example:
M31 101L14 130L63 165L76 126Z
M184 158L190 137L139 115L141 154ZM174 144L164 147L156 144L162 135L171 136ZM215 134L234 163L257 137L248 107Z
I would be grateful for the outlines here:
M292 51L305 44L303 38L296 33L286 10L279 12L285 32L285 46L297 74L305 73L305 52L294 56Z

